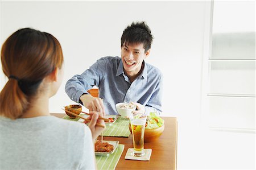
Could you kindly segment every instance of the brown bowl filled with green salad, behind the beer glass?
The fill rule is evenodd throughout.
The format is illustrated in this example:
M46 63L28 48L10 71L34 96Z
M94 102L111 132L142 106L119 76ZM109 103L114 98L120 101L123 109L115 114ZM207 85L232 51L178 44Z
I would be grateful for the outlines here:
M131 132L131 125L129 125ZM147 117L144 142L152 142L157 140L164 131L164 120L160 118L156 113L150 113Z

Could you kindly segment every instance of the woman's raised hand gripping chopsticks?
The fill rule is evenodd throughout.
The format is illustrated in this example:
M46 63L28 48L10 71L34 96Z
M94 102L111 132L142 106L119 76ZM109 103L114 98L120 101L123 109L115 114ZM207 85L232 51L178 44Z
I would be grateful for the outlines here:
M88 117L88 119L90 119L90 123L88 127L90 128L90 131L92 131L92 138L93 138L93 141L95 141L98 138L98 136L101 134L101 132L105 130L106 126L105 126L104 120L98 119L99 117L103 117L102 113L99 113L97 111L90 111L90 114L92 115ZM84 123L87 123L87 122L84 121ZM96 123L99 123L104 127L97 126Z

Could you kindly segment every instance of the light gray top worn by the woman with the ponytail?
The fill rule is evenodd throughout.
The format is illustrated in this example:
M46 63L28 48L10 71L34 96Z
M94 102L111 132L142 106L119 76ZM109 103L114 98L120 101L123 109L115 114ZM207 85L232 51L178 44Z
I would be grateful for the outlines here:
M92 133L53 116L0 117L0 169L95 169Z

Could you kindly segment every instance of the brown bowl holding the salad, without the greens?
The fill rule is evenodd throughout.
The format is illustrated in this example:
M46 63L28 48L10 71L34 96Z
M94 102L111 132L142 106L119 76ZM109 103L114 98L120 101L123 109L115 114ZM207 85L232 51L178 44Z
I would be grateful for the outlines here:
M131 124L129 124L129 130L131 132ZM144 142L152 142L159 138L164 131L164 125L158 128L145 129ZM132 132L131 132L132 134Z

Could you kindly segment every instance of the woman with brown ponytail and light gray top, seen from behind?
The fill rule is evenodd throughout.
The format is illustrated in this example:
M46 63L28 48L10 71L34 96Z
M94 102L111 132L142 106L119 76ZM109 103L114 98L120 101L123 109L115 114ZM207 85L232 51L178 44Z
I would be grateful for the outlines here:
M96 169L94 141L104 130L92 113L88 126L49 114L63 78L63 53L51 34L23 28L2 46L0 169Z

